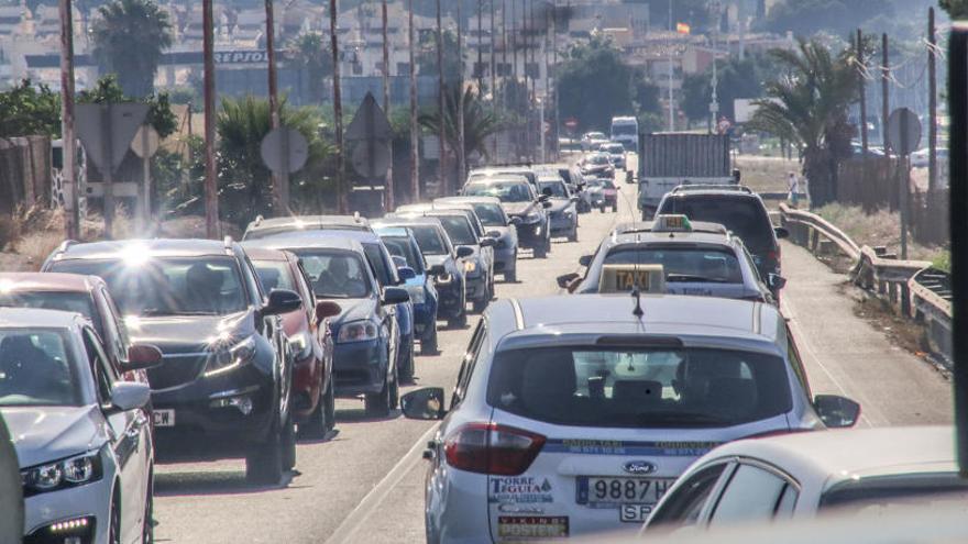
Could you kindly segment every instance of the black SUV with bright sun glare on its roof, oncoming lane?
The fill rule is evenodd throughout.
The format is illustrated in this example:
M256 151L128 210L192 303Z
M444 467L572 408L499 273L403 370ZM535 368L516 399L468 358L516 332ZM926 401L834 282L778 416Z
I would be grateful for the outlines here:
M276 484L296 463L293 356L279 314L296 292L263 292L227 238L66 242L44 271L100 276L133 342L161 348L148 370L160 454L245 457L250 481Z

